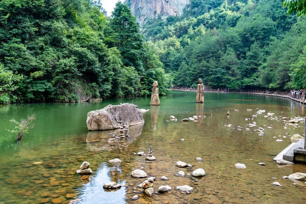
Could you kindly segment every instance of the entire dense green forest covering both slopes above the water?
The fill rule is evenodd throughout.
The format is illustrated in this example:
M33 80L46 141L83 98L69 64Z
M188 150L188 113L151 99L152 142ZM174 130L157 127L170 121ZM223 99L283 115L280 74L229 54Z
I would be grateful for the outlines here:
M0 1L0 103L160 94L171 86L306 89L306 19L282 0L191 0L146 19L93 0Z

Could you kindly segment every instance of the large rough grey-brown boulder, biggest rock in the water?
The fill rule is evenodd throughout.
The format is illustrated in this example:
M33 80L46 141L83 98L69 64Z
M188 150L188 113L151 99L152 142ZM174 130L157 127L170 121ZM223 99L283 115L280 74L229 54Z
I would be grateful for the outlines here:
M90 131L104 131L117 129L120 121L129 125L144 123L142 112L134 104L108 105L104 109L90 111L86 123Z

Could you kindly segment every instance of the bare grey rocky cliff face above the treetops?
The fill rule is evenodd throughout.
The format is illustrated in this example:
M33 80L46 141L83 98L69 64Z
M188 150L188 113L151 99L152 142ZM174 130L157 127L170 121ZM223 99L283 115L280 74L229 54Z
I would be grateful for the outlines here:
M169 15L181 16L189 3L190 0L125 0L140 24L145 18L156 18L159 15L163 19Z

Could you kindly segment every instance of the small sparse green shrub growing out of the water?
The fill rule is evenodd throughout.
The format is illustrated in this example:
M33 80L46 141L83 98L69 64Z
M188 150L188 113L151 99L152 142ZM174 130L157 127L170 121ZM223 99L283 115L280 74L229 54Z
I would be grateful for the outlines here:
M35 126L35 120L36 120L36 115L33 114L31 116L28 116L27 119L21 118L20 122L16 121L15 119L11 119L10 121L15 124L15 127L13 130L9 131L11 133L16 133L18 134L17 141L22 139L22 136L25 133L29 133L29 130L32 129Z

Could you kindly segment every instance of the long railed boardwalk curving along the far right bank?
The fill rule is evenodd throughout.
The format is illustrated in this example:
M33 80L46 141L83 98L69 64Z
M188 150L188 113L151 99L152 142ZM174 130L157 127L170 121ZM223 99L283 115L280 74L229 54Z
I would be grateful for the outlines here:
M195 91L194 89L190 88L171 88L170 90L175 91ZM207 89L204 90L205 92L217 92L217 93L243 93L243 94L257 94L257 95L268 95L268 96L278 96L284 98L290 98L294 101L297 101L302 104L306 104L305 95L300 95L298 93L294 94L291 92L280 92L280 91L261 91L261 90L239 90L239 91L218 91L214 89Z

